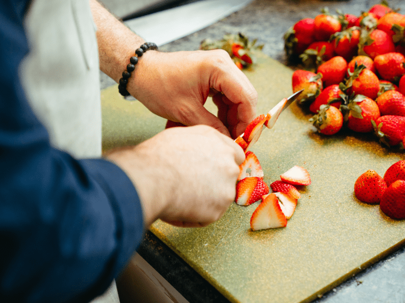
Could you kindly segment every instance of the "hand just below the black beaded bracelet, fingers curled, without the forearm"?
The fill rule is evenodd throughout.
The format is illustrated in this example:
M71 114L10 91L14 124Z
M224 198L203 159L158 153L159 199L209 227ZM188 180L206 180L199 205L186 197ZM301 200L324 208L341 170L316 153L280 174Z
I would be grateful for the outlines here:
M160 117L187 126L206 124L233 138L256 117L257 92L222 49L147 51L127 89ZM204 108L208 96L218 117Z

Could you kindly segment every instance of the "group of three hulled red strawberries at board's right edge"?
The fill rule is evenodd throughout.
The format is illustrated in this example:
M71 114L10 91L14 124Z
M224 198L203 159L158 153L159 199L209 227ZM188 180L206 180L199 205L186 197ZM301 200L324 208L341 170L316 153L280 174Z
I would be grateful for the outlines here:
M405 160L391 165L384 177L372 169L363 173L354 183L354 194L364 203L380 204L392 219L405 219Z

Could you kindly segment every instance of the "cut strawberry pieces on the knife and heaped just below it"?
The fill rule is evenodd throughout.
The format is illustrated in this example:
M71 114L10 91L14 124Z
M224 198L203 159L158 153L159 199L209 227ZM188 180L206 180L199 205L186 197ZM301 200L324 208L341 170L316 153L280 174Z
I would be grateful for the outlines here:
M263 127L268 126L270 118L270 115L258 116L247 126L245 133L235 140L246 155L244 163L239 166L235 203L249 206L261 200L250 220L253 231L286 227L287 220L293 215L301 196L296 185L311 184L308 171L303 167L294 166L281 174L280 180L270 184L273 192L269 193L263 169L249 148L259 139Z

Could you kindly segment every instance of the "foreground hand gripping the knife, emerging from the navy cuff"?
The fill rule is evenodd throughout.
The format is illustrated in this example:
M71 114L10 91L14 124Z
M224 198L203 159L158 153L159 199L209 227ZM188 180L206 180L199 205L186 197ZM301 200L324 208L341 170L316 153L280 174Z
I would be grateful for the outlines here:
M220 219L234 200L245 154L231 138L198 125L166 129L107 159L135 184L147 226L160 218L198 227Z

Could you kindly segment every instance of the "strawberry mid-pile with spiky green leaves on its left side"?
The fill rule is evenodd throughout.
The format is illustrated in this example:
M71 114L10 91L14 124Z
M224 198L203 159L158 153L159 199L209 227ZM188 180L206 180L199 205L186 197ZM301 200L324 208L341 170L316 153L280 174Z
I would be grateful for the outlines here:
M345 85L340 86L346 94L362 94L373 100L377 98L380 81L375 73L364 65L355 65L353 73L349 73L349 75Z

